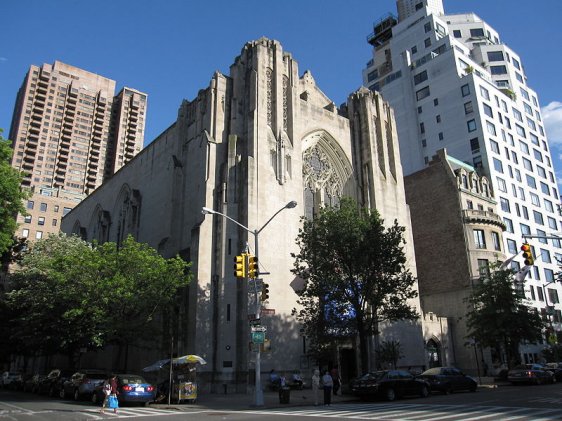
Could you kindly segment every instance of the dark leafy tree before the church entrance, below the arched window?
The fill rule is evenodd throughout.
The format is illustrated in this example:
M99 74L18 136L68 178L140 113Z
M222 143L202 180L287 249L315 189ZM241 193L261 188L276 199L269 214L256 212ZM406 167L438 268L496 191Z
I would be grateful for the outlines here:
M407 302L417 291L406 268L404 231L397 221L385 228L376 211L362 211L351 199L303 219L292 272L305 282L297 292L301 308L293 313L317 353L358 335L366 370L367 339L378 335L379 325L418 317Z

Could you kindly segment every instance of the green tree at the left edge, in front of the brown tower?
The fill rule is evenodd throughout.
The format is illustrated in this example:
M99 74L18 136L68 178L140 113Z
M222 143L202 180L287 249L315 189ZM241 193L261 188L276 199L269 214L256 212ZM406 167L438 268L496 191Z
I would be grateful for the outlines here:
M29 193L21 188L21 173L11 165L13 151L10 145L0 129L0 254L13 244L16 215L25 214L23 200L29 197Z

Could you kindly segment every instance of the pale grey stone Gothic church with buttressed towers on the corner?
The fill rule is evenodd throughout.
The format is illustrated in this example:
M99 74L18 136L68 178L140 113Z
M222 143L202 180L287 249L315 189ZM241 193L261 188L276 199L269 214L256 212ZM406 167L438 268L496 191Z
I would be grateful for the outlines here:
M243 47L228 75L215 73L195 99L185 100L176 121L76 206L62 229L99 242L132 234L165 257L191 261L194 280L172 326L174 352L205 358L202 387L241 391L255 375L249 325L255 311L248 285L234 276L233 258L246 248L254 252L255 232L267 224L259 233L259 267L270 289L262 310L262 384L271 369L308 377L316 362L291 315L299 286L291 253L300 218L342 196L377 209L389 225L397 219L407 227L405 253L415 275L393 110L366 88L337 107L310 72L299 76L279 42L261 38ZM297 206L283 209L291 201ZM203 207L227 217L205 215ZM422 313L418 299L411 305ZM402 367L426 364L430 333L422 324L382 329L382 340L400 341ZM169 342L161 345L132 352L129 362L142 368L164 358ZM340 350L342 374L358 374L356 361L352 345Z

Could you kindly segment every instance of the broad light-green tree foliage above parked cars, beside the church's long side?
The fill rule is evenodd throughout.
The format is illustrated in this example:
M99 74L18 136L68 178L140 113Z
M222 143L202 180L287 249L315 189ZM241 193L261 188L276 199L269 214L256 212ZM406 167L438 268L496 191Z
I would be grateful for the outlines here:
M14 350L72 358L154 335L150 322L189 283L188 267L132 237L120 247L64 234L38 240L6 294Z

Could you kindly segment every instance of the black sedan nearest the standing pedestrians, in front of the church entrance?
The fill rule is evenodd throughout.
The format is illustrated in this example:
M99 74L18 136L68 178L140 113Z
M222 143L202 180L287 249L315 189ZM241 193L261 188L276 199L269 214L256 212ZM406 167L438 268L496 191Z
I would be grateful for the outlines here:
M351 392L361 399L379 397L393 401L403 396L429 395L429 383L402 370L366 373L351 382Z

